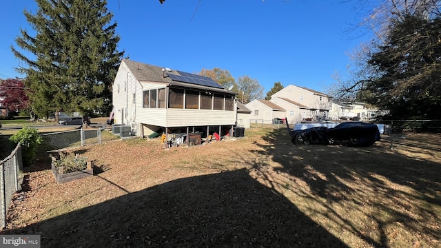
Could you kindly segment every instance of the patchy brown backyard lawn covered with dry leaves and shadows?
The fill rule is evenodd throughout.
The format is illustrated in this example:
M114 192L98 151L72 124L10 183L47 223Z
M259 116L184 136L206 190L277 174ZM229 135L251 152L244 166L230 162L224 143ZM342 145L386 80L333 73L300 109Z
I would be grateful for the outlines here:
M294 146L285 129L253 129L81 147L96 176L57 185L41 158L3 234L41 234L41 247L440 247L441 135L382 138Z

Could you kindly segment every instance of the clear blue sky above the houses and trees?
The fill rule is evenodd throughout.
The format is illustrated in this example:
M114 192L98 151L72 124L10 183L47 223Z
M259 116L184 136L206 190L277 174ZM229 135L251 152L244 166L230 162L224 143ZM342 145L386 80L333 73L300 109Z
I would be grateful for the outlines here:
M198 73L228 70L257 79L265 93L275 82L324 91L335 72L345 74L347 52L367 39L347 34L358 10L340 0L108 0L118 23L119 50L134 61ZM0 79L21 76L10 45L31 0L3 1L0 10Z

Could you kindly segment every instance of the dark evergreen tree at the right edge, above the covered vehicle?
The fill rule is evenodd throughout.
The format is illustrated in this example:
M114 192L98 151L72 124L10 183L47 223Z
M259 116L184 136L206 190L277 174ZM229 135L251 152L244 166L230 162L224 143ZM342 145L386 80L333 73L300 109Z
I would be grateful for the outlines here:
M441 17L397 20L369 64L380 76L367 84L369 103L395 118L438 118L441 108Z

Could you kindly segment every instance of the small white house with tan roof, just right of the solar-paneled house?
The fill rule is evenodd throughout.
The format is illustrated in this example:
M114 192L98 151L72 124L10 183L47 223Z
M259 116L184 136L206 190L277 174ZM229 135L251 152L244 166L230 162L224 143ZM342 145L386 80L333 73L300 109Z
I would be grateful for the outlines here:
M255 99L245 106L252 111L249 117L252 123L271 124L275 118L285 118L285 109L271 101Z

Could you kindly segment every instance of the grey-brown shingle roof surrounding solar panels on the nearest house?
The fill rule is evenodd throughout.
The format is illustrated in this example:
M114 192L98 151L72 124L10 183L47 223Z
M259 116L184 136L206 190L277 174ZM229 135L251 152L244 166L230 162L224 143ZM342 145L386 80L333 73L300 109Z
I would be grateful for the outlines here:
M230 92L226 90L225 88L218 88L218 87L211 87L208 85L198 85L194 83L185 83L181 81L173 81L170 76L167 74L174 74L177 76L181 76L177 70L165 70L165 68L156 66L156 65L148 65L146 63L131 61L128 59L123 59L125 65L127 65L127 68L132 72L134 77L138 81L152 81L152 82L158 82L158 83L167 83L168 85L176 85L180 87L190 87L190 88L196 88L200 90L210 90L210 91L216 91L216 92L223 92L223 93L229 93L229 94L236 94L234 92ZM167 68L168 69L168 68ZM185 72L188 73L188 72ZM192 74L192 73L190 73ZM194 74L198 76L197 74Z

